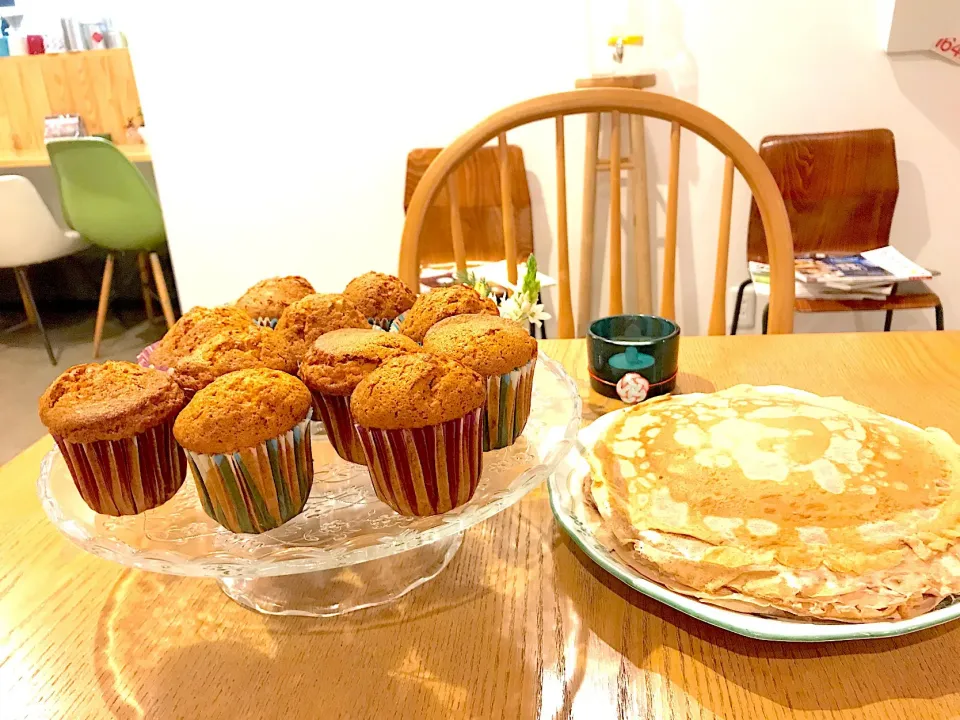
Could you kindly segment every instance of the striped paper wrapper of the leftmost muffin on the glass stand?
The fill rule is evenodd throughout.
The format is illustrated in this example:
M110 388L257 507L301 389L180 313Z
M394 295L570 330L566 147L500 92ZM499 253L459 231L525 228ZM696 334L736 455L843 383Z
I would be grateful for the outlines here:
M187 474L172 420L124 440L53 439L83 501L103 515L136 515L159 507L176 495Z

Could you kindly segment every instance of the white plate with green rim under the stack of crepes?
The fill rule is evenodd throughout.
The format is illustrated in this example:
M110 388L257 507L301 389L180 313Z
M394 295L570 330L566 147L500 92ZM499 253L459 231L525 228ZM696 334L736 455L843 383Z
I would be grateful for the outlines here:
M785 387L766 389L790 394L808 394ZM622 410L618 410L604 415L589 427L584 428L578 437L577 447L571 450L570 454L560 463L557 471L550 477L548 485L550 507L563 529L595 563L621 582L705 623L759 640L825 642L894 637L941 625L960 617L960 602L955 601L954 604L941 606L936 610L931 610L924 615L909 620L871 623L779 620L725 610L715 605L700 602L696 598L675 593L646 579L622 562L599 541L590 530L591 523L585 513L583 481L590 472L590 466L581 456L580 450L591 447L622 412ZM893 419L896 420L896 418ZM896 421L903 422L901 420Z

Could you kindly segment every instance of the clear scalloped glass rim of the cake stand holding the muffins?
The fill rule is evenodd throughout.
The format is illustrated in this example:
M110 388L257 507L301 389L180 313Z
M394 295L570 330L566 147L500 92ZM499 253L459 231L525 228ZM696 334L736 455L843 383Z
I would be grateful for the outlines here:
M37 494L48 519L75 545L98 557L141 570L194 577L267 577L316 572L378 560L464 532L473 525L489 519L518 502L559 466L569 453L570 448L573 447L576 439L582 417L582 400L575 381L566 373L560 363L541 351L538 364L542 364L561 383L566 391L567 398L571 402L570 417L566 418L566 426L563 427L562 434L560 434L555 445L549 449L541 462L527 468L517 476L513 482L514 489L511 492L497 497L483 506L466 505L464 508L447 513L444 516L445 522L443 524L429 530L413 532L408 539L396 541L390 545L357 548L343 553L317 552L309 557L295 557L279 561L220 556L202 558L177 556L172 558L158 556L151 551L134 549L107 536L94 536L79 523L64 516L47 482L53 461L59 455L59 449L56 446L47 453L41 462L40 476L37 480ZM534 382L536 383L536 379ZM560 427L559 424L558 427ZM190 482L189 478L187 482ZM470 511L469 515L465 514L466 510ZM306 554L306 551L304 553Z

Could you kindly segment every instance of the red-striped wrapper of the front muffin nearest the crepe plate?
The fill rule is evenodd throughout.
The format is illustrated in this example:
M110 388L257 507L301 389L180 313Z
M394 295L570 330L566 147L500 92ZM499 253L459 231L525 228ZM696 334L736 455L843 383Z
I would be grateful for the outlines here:
M440 425L378 430L357 425L373 488L401 515L439 515L473 497L483 469L481 409Z

